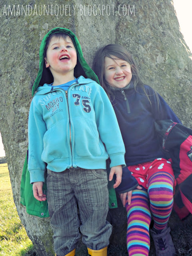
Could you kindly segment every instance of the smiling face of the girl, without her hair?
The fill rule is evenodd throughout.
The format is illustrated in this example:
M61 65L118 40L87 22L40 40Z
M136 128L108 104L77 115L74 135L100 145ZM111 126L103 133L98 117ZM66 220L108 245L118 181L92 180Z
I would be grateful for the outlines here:
M132 78L131 66L125 60L111 56L114 59L105 57L104 77L110 86L115 88L126 87Z

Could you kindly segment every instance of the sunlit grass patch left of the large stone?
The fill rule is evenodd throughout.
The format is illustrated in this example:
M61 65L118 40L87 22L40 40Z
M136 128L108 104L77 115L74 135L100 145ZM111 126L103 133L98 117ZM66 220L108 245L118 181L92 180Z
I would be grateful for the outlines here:
M36 256L14 204L7 164L0 164L0 256Z

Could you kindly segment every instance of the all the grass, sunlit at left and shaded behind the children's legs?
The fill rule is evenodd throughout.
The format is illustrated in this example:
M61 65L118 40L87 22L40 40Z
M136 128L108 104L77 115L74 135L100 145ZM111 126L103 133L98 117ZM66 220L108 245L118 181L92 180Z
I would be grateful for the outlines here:
M0 184L0 256L37 256L17 214L7 164L0 164ZM192 216L181 222L173 212L169 225L177 255L192 256ZM86 246L80 246L76 256L86 255ZM108 256L128 256L126 242L121 246L110 244ZM149 256L155 256L152 240Z

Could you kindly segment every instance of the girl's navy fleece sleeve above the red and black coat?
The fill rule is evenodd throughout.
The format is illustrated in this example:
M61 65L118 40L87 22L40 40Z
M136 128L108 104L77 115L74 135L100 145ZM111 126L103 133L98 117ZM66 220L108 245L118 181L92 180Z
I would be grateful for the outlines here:
M148 86L148 88L150 88ZM170 108L168 103L160 96L160 94L155 94L154 90L150 88L147 92L151 101L152 113L154 115L155 121L171 119L173 122L181 124L181 121Z

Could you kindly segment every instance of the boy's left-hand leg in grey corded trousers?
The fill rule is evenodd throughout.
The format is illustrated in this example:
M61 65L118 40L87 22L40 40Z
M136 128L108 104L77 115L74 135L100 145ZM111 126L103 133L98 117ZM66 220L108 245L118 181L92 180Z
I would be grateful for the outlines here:
M72 252L80 238L76 198L69 174L69 170L60 173L48 170L47 176L48 209L57 256Z

